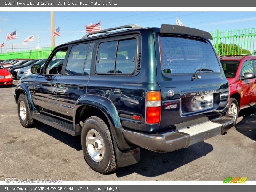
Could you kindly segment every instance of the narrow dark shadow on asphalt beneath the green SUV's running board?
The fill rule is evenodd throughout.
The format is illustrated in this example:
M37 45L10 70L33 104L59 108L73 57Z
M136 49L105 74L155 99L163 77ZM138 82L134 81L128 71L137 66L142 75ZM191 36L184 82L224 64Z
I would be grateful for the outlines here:
M51 137L61 141L62 143L65 143L66 145L76 149L77 151L82 150L80 136L74 137L72 135L69 135L68 133L55 129L41 122L37 122L36 129L46 133L47 135L50 135Z

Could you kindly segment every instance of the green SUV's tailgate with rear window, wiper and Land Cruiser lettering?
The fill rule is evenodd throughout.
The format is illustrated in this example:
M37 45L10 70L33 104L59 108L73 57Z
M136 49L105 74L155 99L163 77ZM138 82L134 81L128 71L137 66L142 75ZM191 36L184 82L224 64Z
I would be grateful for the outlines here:
M155 42L162 95L160 130L216 118L228 104L228 81L211 43L168 34L158 35Z

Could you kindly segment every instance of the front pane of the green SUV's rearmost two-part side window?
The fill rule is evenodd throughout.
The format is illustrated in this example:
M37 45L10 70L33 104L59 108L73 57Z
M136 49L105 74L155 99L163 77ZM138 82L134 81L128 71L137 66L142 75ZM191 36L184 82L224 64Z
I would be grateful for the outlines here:
M97 73L114 73L117 41L100 43L97 59Z

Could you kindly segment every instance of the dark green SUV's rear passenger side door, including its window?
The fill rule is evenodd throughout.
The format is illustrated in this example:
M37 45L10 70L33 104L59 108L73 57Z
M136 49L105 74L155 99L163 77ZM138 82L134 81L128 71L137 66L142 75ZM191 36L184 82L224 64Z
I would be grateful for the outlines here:
M74 44L57 83L57 103L60 115L72 120L77 99L86 94L94 42Z

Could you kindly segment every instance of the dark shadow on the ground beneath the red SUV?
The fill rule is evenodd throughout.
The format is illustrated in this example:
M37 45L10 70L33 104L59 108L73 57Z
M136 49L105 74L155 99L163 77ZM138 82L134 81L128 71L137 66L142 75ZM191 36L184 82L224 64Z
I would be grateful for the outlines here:
M239 116L243 116L243 119L235 124L236 130L244 136L256 141L256 107L241 110Z

